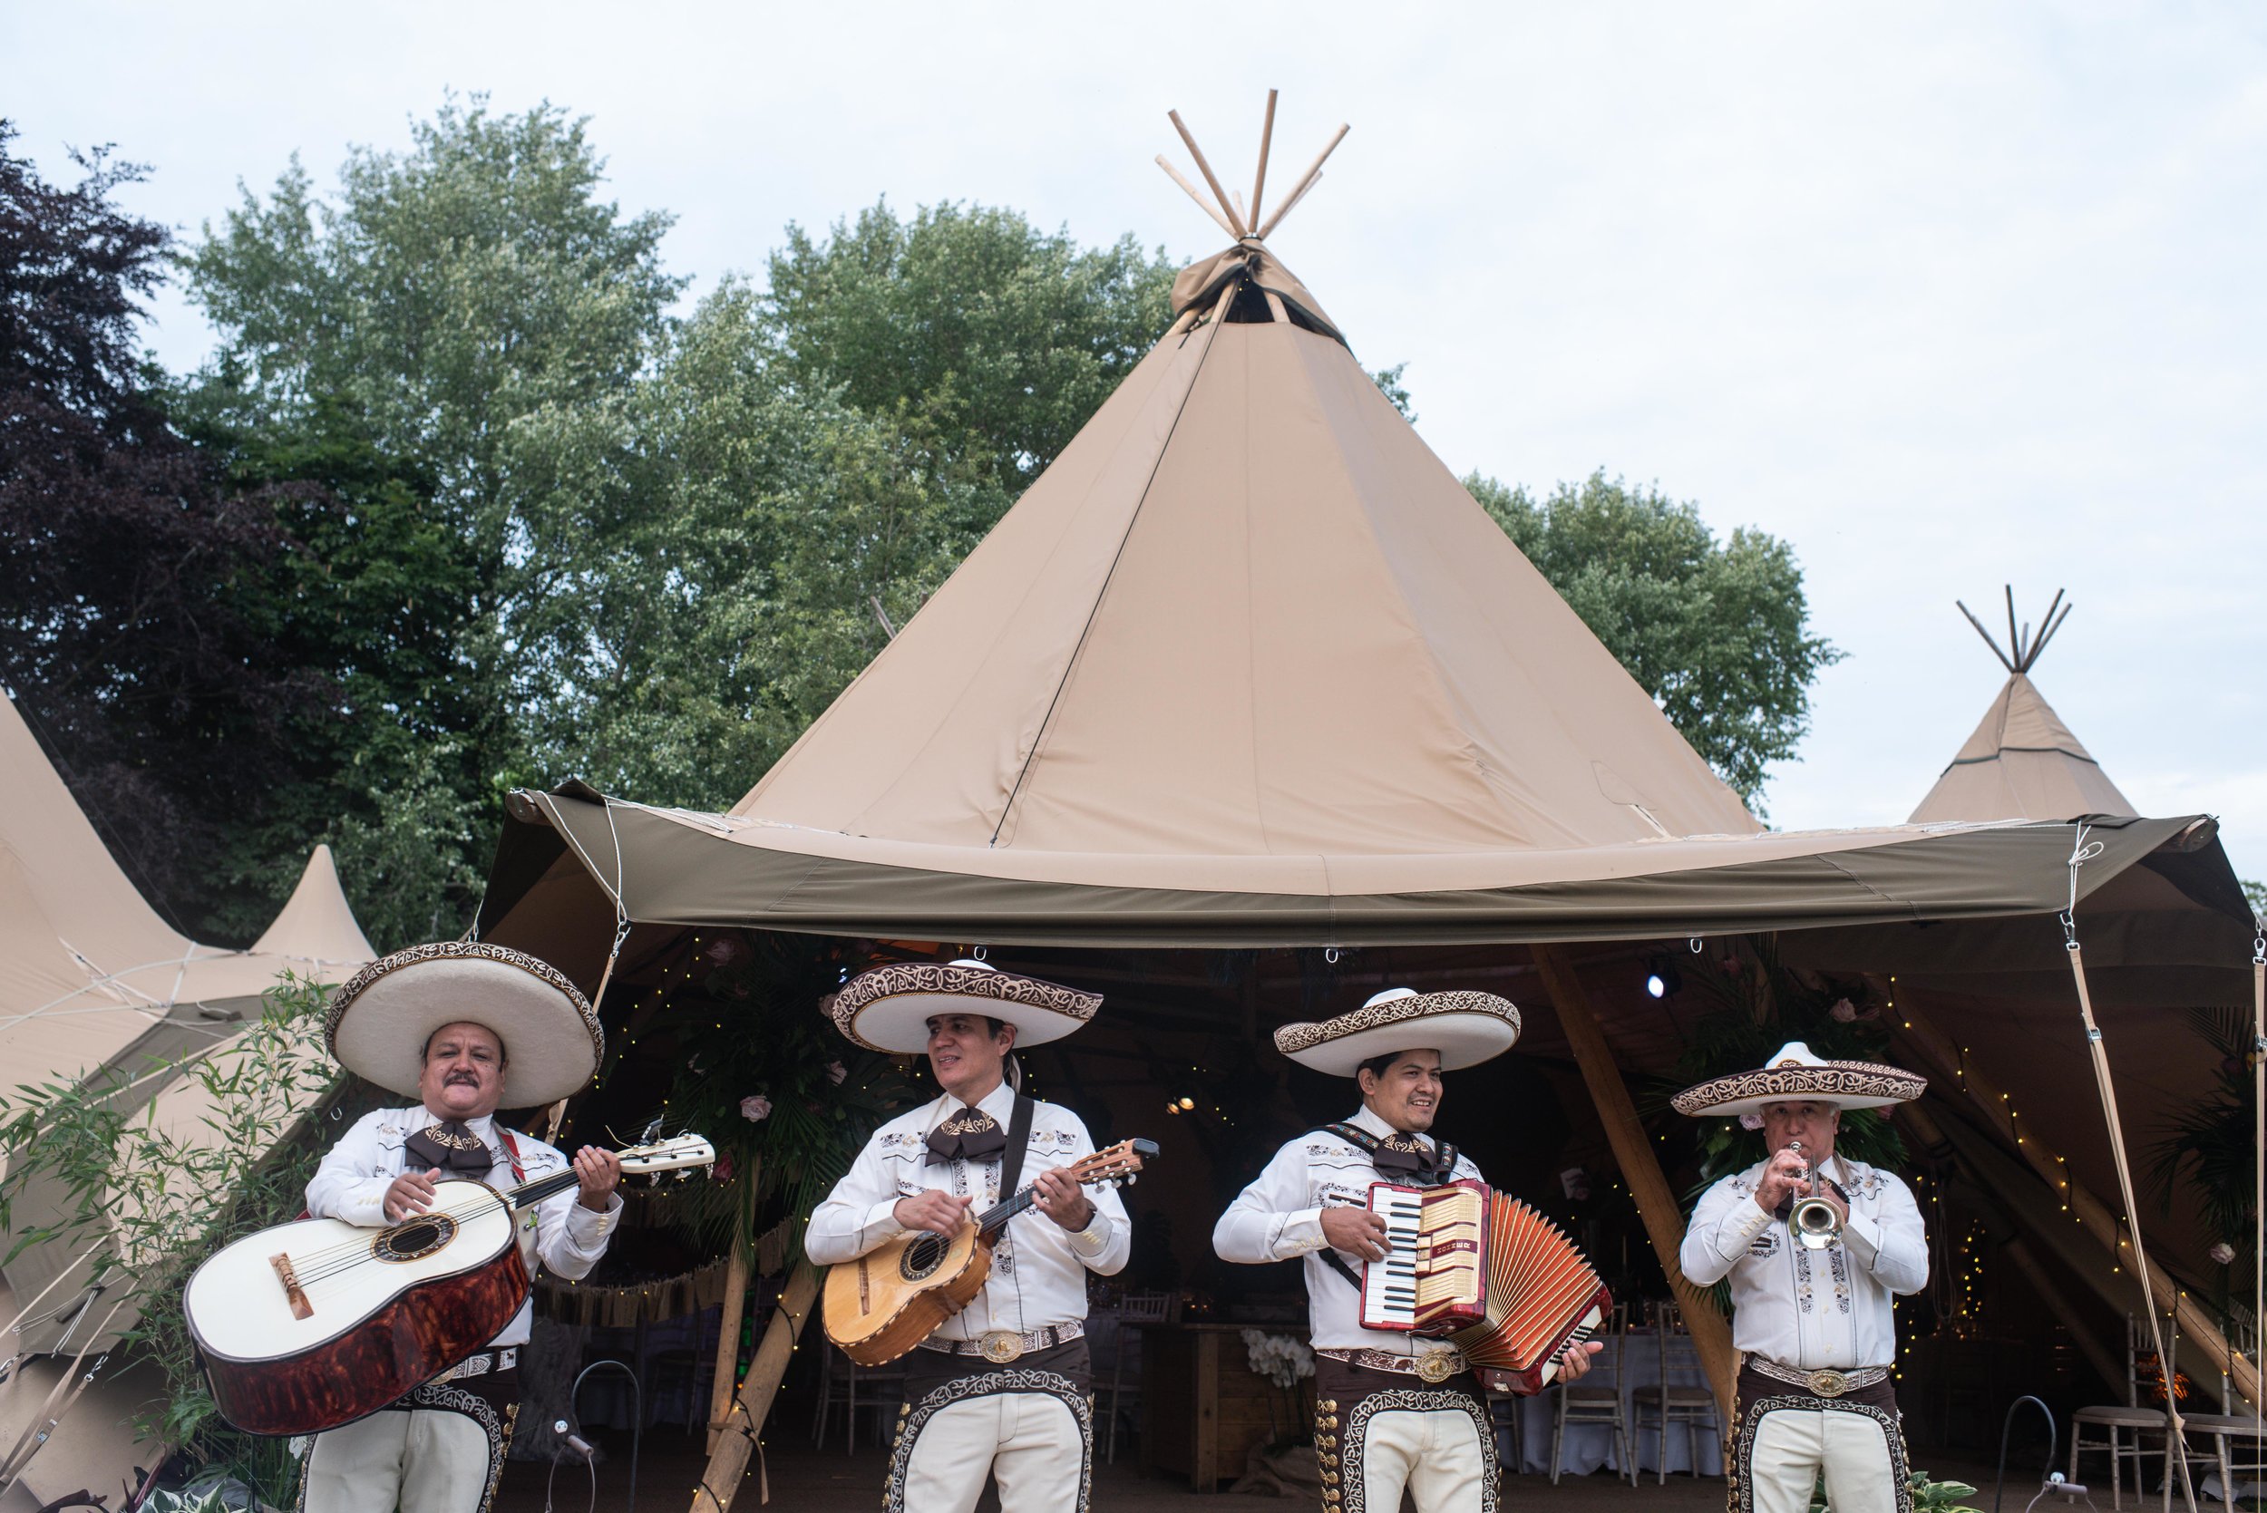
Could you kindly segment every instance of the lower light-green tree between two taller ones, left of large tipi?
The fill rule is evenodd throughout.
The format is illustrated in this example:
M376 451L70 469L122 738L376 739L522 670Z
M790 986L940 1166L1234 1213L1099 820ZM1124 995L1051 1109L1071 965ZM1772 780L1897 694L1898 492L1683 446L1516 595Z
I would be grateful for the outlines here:
M553 675L537 763L730 804L975 544L966 482L889 417L805 392L739 281L619 403L535 417L551 471L512 634Z

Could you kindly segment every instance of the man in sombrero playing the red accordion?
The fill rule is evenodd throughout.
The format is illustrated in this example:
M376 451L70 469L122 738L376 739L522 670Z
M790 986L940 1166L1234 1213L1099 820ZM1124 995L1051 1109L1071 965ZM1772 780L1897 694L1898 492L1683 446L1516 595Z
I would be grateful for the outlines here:
M1417 1513L1496 1506L1496 1436L1462 1352L1401 1330L1362 1327L1365 1262L1385 1259L1372 1182L1433 1187L1480 1169L1428 1135L1442 1071L1476 1067L1519 1040L1519 1010L1489 992L1390 988L1322 1024L1285 1024L1276 1049L1301 1067L1351 1076L1362 1108L1276 1151L1213 1230L1224 1262L1306 1259L1315 1345L1315 1450L1322 1504ZM1598 1345L1569 1345L1560 1379L1589 1370Z

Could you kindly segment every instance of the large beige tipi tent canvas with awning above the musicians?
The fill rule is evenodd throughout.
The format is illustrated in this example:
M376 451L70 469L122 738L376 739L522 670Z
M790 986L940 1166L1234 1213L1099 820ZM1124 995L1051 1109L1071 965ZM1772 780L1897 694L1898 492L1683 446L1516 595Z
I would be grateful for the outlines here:
M1326 947L2065 901L2061 827L1764 831L1376 390L1283 211L1217 202L1172 328L739 804L519 793L481 933L594 981L617 920ZM2081 897L2190 827L2104 827Z

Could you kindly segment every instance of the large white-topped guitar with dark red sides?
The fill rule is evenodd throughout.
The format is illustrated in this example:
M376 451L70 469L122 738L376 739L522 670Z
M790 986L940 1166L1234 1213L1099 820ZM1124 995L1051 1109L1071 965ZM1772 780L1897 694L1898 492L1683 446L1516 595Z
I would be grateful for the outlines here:
M707 1166L682 1135L621 1151L623 1176ZM383 1230L302 1219L222 1246L181 1293L220 1416L247 1434L320 1434L467 1359L528 1298L535 1205L574 1169L496 1191L451 1178Z

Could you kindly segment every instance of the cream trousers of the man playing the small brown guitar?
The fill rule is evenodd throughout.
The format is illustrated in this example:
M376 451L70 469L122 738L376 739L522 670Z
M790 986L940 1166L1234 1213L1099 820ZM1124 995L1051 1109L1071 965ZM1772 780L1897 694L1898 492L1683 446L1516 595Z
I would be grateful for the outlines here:
M1086 1506L1088 1436L1054 1393L986 1393L923 1418L889 1506L968 1513L984 1477L1000 1481L1000 1513L1070 1513Z

